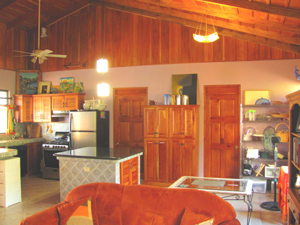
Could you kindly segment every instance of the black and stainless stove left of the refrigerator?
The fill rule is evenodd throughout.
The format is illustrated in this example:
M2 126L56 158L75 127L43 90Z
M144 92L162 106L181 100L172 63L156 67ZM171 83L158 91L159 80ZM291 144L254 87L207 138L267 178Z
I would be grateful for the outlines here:
M43 143L43 161L41 172L43 178L59 180L59 161L53 156L54 153L67 151L69 149L69 132L55 132L54 141Z

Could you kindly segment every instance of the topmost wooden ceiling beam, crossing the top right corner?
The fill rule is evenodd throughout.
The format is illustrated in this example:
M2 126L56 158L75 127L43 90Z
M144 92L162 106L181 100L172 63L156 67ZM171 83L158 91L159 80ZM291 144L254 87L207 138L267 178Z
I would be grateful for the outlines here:
M290 9L290 8L284 8L280 6L267 5L258 2L250 2L248 0L197 0L197 1L248 9L257 12L264 12L276 16L284 16L284 17L290 17L294 19L300 19L300 10L298 9Z

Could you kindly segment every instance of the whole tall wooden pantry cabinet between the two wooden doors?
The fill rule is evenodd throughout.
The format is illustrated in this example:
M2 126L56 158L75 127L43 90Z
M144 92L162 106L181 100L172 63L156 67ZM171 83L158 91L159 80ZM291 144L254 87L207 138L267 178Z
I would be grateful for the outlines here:
M144 129L144 184L198 175L198 105L145 106Z

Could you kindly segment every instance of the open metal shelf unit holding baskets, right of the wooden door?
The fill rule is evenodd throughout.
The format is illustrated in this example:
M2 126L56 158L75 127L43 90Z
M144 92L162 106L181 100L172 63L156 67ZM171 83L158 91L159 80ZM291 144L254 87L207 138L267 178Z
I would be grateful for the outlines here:
M241 176L243 177L243 164L244 161L247 160L252 166L257 166L259 163L264 164L274 164L273 160L273 154L269 155L269 158L246 158L247 155L247 148L253 147L255 149L263 149L263 141L253 141L253 140L243 140L243 135L245 133L245 128L254 128L255 130L258 130L257 133L262 134L264 129L267 126L276 127L278 123L286 123L288 125L289 119L288 118L274 118L274 117L260 117L258 118L258 115L260 114L271 114L272 113L285 113L288 112L289 105L288 104L280 104L280 105L242 105L241 104L241 136L240 136L240 149L241 149ZM256 120L255 121L249 121L245 119L245 113L249 109L255 109L256 112ZM284 154L285 157L287 157L288 152L288 143L289 142L280 142L278 143L278 151L281 154ZM278 166L286 166L288 164L287 159L278 159L277 165ZM264 174L264 173L262 173ZM254 175L255 176L255 175ZM267 179L267 178L265 178Z

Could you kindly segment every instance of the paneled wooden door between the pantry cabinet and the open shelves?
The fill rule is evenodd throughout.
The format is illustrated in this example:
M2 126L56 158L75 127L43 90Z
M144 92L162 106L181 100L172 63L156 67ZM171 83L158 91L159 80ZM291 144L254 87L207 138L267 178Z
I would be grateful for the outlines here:
M204 89L204 176L239 178L240 85Z

